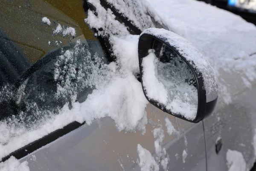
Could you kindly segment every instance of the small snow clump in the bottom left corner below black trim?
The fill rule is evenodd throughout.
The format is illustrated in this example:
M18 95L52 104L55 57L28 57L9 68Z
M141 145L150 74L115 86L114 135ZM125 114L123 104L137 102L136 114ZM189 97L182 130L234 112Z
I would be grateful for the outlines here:
M15 157L11 156L5 162L0 162L0 171L29 171L28 162L20 163Z

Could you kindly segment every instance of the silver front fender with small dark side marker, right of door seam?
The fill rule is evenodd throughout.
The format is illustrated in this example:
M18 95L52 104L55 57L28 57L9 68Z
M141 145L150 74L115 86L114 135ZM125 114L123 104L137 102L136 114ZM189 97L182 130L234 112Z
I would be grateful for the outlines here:
M232 94L229 103L219 99L215 112L204 120L208 171L250 170L255 162L255 81L247 88L241 73L221 74Z

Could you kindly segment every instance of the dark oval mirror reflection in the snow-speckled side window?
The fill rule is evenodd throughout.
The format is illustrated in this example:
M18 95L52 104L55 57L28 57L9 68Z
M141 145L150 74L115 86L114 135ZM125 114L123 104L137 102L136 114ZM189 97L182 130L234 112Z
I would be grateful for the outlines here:
M72 108L73 103L85 101L108 74L99 48L98 41L78 40L35 63L38 69L18 88L16 104L24 113L23 121L56 115L64 106Z

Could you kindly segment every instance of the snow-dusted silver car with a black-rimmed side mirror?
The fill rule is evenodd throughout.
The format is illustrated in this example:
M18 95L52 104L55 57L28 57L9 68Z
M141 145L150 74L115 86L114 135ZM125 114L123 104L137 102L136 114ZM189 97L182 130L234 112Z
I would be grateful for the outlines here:
M253 167L253 53L217 73L218 97L212 51L150 3L2 0L1 169Z

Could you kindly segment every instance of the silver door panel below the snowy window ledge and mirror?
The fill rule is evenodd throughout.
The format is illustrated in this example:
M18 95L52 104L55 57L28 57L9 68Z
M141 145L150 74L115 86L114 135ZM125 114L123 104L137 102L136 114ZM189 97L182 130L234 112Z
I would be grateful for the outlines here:
M125 132L116 129L110 117L94 120L91 125L64 135L54 142L23 157L30 170L119 171L140 170L137 145L155 156L154 128L162 127L165 135L163 148L169 155L169 170L198 171L206 169L204 132L202 123L192 124L164 113L153 105L147 107L146 132ZM165 117L179 133L167 134ZM183 151L187 156L183 157Z

